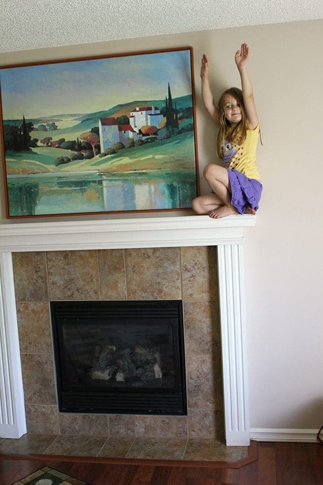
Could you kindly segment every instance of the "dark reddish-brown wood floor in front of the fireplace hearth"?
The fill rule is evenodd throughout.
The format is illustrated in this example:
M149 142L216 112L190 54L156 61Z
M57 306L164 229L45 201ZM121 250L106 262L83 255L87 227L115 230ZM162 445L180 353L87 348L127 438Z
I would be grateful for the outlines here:
M0 457L0 484L49 466L91 485L323 485L319 443L257 443L257 459L241 468L156 466L80 461L13 460Z

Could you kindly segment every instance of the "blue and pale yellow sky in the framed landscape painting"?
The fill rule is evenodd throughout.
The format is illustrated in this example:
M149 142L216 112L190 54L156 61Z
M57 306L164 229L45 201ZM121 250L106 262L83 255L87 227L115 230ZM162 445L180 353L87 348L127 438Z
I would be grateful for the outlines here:
M190 50L0 70L4 120L91 113L192 93Z

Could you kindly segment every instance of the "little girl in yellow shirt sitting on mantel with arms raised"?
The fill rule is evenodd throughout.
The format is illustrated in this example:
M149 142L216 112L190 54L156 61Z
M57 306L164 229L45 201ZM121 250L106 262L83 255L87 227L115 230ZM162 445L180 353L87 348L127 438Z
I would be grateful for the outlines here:
M242 44L235 53L241 89L227 89L214 103L209 83L209 60L205 54L201 63L202 97L212 120L219 127L217 154L225 166L207 165L203 175L212 189L192 202L196 214L212 218L232 214L255 214L263 186L256 164L259 122L253 90L247 71L249 47Z

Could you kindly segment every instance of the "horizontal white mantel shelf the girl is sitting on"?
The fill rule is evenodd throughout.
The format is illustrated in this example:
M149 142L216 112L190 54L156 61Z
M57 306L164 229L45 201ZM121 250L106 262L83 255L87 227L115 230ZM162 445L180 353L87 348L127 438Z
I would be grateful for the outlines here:
M0 251L48 251L241 244L255 216L145 217L0 224Z

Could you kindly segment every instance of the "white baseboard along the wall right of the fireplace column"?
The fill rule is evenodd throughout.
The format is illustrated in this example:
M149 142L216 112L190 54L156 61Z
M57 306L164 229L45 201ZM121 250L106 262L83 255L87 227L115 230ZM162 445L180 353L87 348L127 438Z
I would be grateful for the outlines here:
M251 428L250 439L255 441L290 441L317 443L317 430L293 430L274 428Z

